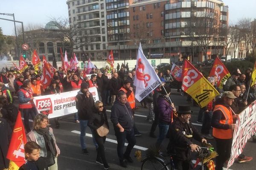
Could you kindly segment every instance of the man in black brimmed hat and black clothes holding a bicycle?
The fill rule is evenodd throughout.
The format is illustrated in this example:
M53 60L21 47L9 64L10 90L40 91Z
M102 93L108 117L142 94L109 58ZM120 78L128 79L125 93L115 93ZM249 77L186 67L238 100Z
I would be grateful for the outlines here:
M170 127L169 153L175 153L173 159L177 170L192 170L191 151L198 151L199 146L193 144L192 139L207 142L198 130L189 121L191 118L190 106L179 106L178 118Z

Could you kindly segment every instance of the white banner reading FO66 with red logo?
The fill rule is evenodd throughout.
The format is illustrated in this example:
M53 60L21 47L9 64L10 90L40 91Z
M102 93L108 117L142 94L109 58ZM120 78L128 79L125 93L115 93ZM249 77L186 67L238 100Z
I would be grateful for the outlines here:
M36 96L33 101L38 109L38 113L44 113L49 118L55 118L77 112L75 98L78 91L80 90ZM94 101L99 100L96 87L89 88L89 91L93 95Z

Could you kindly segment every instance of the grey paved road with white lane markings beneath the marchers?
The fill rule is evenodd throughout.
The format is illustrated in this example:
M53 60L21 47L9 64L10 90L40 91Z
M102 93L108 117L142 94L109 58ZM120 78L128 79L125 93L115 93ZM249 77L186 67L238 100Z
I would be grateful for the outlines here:
M186 102L186 97L182 97L180 93L173 93L171 97L172 101L175 103L176 106L178 105L188 105L190 103ZM138 104L140 106L140 104ZM190 104L192 105L192 104ZM110 107L107 107L110 110ZM198 130L201 130L201 125L196 124L197 116L198 116L198 107L192 106L192 122L195 123L195 126ZM137 128L143 133L142 136L136 137L137 143L136 148L132 150L132 155L136 150L145 150L146 148L150 147L156 139L149 137L149 130L151 128L151 122L145 121L145 116L148 113L148 109L140 108L136 110L135 122ZM108 121L110 122L110 112L108 112ZM52 127L54 128L54 122L52 123ZM63 117L60 120L61 128L54 129L54 134L57 140L57 144L61 149L61 155L58 157L58 167L60 170L101 170L103 167L95 163L96 159L96 149L93 145L92 138L91 138L91 131L87 129L87 149L89 151L89 155L83 155L81 153L80 141L79 141L79 133L80 127L79 124L74 122L73 115L68 115ZM156 130L156 134L158 134L158 128ZM110 133L107 136L108 140L105 143L106 147L106 157L111 166L112 170L140 170L140 162L136 161L134 158L134 163L128 164L128 168L122 168L119 166L119 160L116 153L116 136L114 135L113 125L110 123ZM209 140L209 143L215 145L214 140ZM197 142L198 143L198 142ZM163 142L164 146L167 146L168 139L165 139ZM199 143L198 143L199 144ZM252 142L250 139L246 147L244 149L244 154L247 156L256 156L256 147L255 143ZM145 156L145 152L143 151L142 154ZM255 158L256 159L256 158ZM256 161L247 162L244 164L234 163L231 170L256 170Z

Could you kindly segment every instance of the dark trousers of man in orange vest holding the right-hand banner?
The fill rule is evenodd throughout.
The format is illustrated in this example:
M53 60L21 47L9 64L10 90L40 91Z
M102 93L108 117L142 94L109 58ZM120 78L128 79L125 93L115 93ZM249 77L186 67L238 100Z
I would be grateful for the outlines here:
M224 162L230 158L233 139L214 139L216 141L216 150L218 153L215 170L222 170Z

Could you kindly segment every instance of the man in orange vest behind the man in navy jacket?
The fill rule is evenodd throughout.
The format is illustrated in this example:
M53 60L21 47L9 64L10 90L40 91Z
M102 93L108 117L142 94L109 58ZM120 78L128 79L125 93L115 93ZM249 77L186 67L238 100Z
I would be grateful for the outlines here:
M122 88L119 89L119 91L125 92L127 96L127 102L130 104L131 109L133 111L133 114L135 113L135 95L133 92L133 88L131 87L131 82L129 80L125 80L123 83ZM142 133L139 132L137 129L135 122L134 122L134 135L135 136L141 136Z

